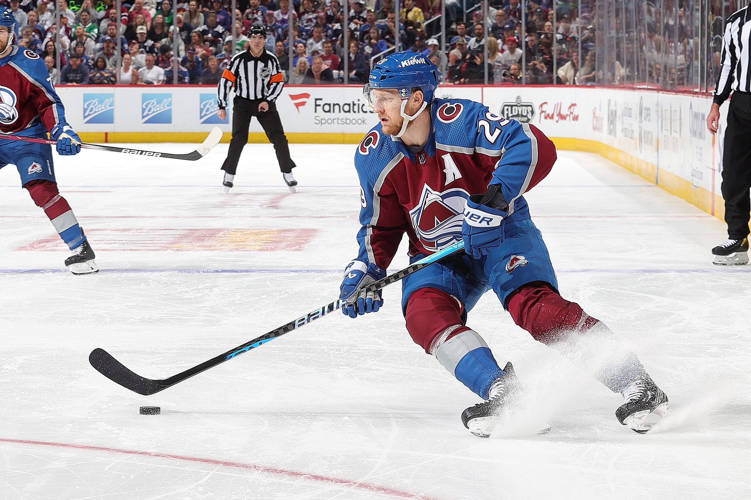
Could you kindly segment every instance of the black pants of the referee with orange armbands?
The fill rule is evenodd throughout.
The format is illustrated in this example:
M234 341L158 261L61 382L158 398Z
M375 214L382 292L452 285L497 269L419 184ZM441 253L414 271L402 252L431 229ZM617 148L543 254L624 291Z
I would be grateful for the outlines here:
M240 161L240 153L243 152L243 146L248 143L248 128L252 117L258 118L261 127L274 145L276 150L276 159L279 160L279 169L282 172L292 172L295 164L289 157L289 145L287 136L284 135L282 120L279 119L279 112L276 111L276 103L269 103L268 111L259 111L258 104L263 100L246 99L245 97L235 97L234 106L232 107L232 140L230 141L230 150L227 153L227 159L222 165L222 170L228 174L234 175L237 172L237 162ZM268 101L267 101L268 102Z

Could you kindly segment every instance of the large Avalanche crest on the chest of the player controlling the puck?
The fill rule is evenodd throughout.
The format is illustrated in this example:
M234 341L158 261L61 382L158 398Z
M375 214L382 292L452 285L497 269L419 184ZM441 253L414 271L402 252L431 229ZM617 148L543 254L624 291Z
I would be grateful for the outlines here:
M439 193L424 184L420 202L409 211L409 219L426 250L437 252L462 239L467 198L469 193L460 188Z

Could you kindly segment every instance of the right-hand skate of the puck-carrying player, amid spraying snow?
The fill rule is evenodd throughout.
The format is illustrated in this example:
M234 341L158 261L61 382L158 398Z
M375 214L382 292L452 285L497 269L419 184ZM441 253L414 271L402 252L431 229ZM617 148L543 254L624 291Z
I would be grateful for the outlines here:
M644 434L668 413L668 396L644 373L623 390L623 405L615 416L629 429Z

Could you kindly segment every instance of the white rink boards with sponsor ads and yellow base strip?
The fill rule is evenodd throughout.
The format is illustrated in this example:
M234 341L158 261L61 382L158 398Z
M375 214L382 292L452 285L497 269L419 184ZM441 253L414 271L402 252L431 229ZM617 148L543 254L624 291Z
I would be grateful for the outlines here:
M158 89L158 90L155 90ZM217 116L202 86L59 87L66 116L87 142L200 142ZM722 219L722 136L706 127L709 94L568 86L445 86L439 97L480 101L504 118L535 124L558 148L592 151ZM276 100L290 142L357 143L377 124L359 86L286 86ZM231 111L231 109L230 109ZM258 121L251 142L267 142Z

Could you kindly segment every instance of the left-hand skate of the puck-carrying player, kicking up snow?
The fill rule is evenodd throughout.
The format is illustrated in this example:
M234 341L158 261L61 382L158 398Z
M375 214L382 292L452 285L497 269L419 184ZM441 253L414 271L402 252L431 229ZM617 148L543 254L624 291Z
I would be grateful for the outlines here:
M479 438L489 438L490 434L508 412L509 406L514 404L521 392L519 380L511 361L503 367L505 374L493 382L490 388L490 399L484 403L470 406L462 412L462 423L469 432ZM542 426L538 434L550 432L550 426Z

